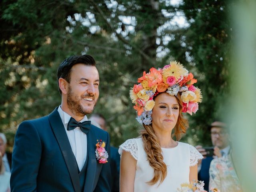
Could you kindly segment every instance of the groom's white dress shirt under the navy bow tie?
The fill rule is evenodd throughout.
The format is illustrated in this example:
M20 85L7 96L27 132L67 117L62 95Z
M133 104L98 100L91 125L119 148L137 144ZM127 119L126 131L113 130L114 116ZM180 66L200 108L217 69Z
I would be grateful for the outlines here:
M79 127L76 127L73 130L68 131L68 122L71 118L69 114L64 112L60 106L58 108L58 112L60 114L60 118L62 120L62 123L64 125L66 134L68 136L68 140L70 142L70 146L72 148L72 151L74 153L74 156L76 157L76 162L78 164L78 168L81 171L84 163L86 161L87 156L87 136L84 132L80 130ZM87 117L84 116L84 118L80 122L87 121Z

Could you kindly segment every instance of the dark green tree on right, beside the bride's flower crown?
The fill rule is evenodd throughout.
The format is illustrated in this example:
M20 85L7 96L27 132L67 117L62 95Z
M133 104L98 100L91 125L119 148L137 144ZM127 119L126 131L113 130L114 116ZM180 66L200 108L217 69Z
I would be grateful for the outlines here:
M196 140L200 140L202 144L210 144L207 142L210 139L202 139L209 132L208 125L214 119L220 119L227 110L226 97L230 90L228 1L184 0L179 10L184 12L190 26L175 34L178 40L170 41L169 47L172 50L182 50L182 55L178 54L181 58L177 59L195 72L197 86L201 88L204 97L198 112L190 121L192 130L187 136L195 132L198 135ZM186 46L182 46L180 42ZM180 44L180 48L177 44ZM184 52L189 55L186 60L182 58Z

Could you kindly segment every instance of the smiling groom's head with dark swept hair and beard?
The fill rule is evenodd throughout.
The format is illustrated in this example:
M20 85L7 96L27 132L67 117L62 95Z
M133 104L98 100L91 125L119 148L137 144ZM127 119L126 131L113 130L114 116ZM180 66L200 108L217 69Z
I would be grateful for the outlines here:
M58 67L62 110L71 116L90 114L99 97L99 74L90 55L74 55Z

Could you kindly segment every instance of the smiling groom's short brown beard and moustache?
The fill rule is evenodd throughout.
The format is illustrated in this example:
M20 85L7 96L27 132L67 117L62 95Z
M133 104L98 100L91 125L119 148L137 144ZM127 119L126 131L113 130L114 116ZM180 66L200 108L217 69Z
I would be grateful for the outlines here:
M86 94L83 97L92 97L95 99L94 95L92 94ZM94 102L94 106L92 109L85 109L81 104L81 98L73 94L71 86L68 86L67 102L68 108L72 113L74 113L77 116L85 116L87 114L92 113L97 103L97 100Z

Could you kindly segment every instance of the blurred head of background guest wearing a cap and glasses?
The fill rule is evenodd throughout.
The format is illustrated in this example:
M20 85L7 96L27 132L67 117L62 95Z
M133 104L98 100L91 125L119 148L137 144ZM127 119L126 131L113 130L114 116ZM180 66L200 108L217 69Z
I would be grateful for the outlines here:
M214 121L210 125L212 144L220 149L229 145L229 134L227 125L224 122Z

